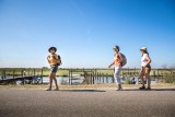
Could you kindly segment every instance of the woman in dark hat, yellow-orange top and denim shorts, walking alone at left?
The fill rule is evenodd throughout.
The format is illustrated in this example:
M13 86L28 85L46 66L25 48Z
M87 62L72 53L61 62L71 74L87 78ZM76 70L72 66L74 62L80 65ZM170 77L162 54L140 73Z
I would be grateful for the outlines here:
M50 52L47 57L48 63L50 65L50 74L49 74L49 87L46 91L51 91L52 80L55 81L56 84L56 89L54 89L54 91L59 91L56 73L58 71L58 66L61 63L60 56L56 54L57 51L56 47L50 47L48 51Z

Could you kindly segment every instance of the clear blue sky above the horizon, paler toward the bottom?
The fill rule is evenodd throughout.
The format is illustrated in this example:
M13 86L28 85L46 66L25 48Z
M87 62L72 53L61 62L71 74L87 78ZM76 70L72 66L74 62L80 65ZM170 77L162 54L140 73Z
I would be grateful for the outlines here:
M107 68L119 45L126 67L175 67L173 0L0 0L0 68L48 67L50 46L62 68Z

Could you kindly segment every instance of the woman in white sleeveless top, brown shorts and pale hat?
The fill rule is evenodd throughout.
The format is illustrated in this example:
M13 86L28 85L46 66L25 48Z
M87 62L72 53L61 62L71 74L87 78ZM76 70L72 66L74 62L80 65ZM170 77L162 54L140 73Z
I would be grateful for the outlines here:
M141 79L141 83L142 86L140 87L140 90L144 90L144 83L148 80L148 87L147 90L151 90L151 79L150 79L150 72L151 72L151 58L149 56L149 52L147 50L147 47L142 47L140 49L142 57L141 57L141 72L140 72L140 79Z

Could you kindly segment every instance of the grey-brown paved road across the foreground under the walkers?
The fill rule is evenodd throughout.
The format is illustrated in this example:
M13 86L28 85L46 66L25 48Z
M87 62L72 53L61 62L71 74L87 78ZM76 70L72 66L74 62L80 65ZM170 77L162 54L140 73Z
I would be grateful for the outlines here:
M175 89L0 89L0 117L175 117Z

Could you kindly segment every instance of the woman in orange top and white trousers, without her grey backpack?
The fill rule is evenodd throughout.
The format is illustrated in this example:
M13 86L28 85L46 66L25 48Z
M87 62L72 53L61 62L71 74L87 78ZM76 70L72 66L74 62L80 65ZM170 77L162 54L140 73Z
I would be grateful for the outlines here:
M115 78L115 82L117 84L117 91L121 91L122 86L121 86L121 79L120 79L120 70L122 68L122 56L119 52L119 46L115 46L114 47L114 61L108 66L108 68L110 68L112 66L115 66L115 72L114 72L114 78Z

